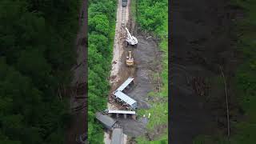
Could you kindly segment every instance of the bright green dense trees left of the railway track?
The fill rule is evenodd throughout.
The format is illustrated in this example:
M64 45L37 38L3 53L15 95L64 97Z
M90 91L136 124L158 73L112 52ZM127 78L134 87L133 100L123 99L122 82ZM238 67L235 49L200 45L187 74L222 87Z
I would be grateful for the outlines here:
M103 143L97 111L106 109L110 90L108 78L114 42L116 0L90 0L88 8L88 140Z

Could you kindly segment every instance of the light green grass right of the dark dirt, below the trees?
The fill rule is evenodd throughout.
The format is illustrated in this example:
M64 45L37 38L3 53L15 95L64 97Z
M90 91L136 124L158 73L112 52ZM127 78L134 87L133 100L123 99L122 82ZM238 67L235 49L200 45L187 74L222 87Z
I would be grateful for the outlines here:
M158 92L150 92L148 95L153 98L162 98L164 102L150 102L152 106L150 109L138 110L138 116L142 117L143 114L148 116L150 113L150 119L148 124L146 125L147 130L154 131L155 128L162 125L168 126L168 42L167 38L163 39L160 42L160 48L164 52L162 55L162 72L161 72L161 80L162 87L161 93ZM168 130L166 129L162 134L162 137L156 139L154 141L148 141L146 138L137 138L138 144L164 144L168 142Z

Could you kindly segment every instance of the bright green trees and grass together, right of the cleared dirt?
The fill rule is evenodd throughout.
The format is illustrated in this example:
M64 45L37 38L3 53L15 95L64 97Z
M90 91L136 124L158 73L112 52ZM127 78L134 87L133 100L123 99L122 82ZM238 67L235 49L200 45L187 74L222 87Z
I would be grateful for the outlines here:
M151 114L147 128L152 131L158 126L168 125L168 1L167 0L140 0L132 1L132 14L136 15L135 19L142 30L153 33L155 37L161 39L159 43L162 51L162 70L159 71L162 87L159 92L152 92L151 95L156 99L162 99L164 102L150 102L150 110L139 110L138 114ZM134 9L137 6L137 12ZM158 79L158 74L155 74ZM162 131L162 137L149 142L146 138L138 138L138 143L167 143L168 130Z

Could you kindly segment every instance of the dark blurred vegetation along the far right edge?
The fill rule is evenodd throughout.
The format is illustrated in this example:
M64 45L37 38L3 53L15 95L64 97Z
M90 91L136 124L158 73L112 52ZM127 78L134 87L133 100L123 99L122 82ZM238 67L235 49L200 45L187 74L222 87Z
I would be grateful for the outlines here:
M236 71L235 86L240 106L244 110L242 121L231 122L230 138L223 135L200 136L195 139L195 144L220 143L220 144L253 144L256 141L256 1L231 0L234 6L242 7L245 18L235 22L238 37L236 48L241 52L242 64Z

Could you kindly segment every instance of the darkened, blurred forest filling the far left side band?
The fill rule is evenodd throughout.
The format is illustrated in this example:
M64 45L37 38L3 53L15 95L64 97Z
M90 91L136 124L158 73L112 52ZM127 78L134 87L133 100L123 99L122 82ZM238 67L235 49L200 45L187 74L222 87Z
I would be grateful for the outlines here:
M0 143L63 144L79 2L0 1ZM68 95L66 95L68 97Z

